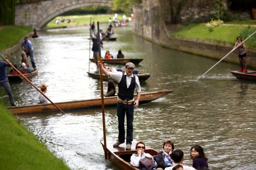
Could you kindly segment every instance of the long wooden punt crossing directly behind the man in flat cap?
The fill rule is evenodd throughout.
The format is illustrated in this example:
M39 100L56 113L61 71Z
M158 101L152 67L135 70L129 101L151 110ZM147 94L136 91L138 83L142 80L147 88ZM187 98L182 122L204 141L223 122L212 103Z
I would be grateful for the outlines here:
M173 90L163 90L163 91L156 91L156 92L150 92L150 93L141 93L139 104L151 102L155 99L158 99L172 92ZM135 99L136 99L136 96L137 95L135 94ZM62 110L68 110L68 109L101 107L102 101L101 101L101 98L99 97L95 99L75 100L75 101L60 102L55 104ZM104 98L104 106L116 106L116 104L117 104L117 96ZM8 107L8 109L10 109L10 111L13 114L36 113L36 112L57 110L56 107L53 106L53 104L51 103L25 105L25 106L12 106L12 107Z

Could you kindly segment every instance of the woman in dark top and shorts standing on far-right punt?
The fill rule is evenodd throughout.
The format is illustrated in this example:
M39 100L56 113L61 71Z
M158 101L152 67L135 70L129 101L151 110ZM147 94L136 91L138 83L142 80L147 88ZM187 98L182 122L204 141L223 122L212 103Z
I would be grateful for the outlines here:
M236 44L234 46L234 48L236 48L238 45L239 47L237 48L238 49L238 52L239 52L239 61L240 61L240 72L244 72L246 73L247 72L247 64L246 64L246 47L245 47L245 43L243 42L242 38L240 36L236 37ZM233 48L233 49L234 49ZM243 65L244 65L244 69L243 69Z

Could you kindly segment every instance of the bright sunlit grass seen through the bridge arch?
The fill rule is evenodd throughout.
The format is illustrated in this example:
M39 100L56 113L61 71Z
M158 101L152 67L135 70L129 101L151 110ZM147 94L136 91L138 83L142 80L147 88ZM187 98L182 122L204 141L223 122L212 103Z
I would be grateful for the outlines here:
M59 24L55 23L55 19L60 19L63 17L65 20L68 20L69 18L73 19L71 23L65 23L65 22L59 22ZM77 25L77 24L89 24L90 19L92 17L92 22L94 21L95 24L98 22L108 22L109 18L113 17L113 14L99 14L99 15L82 15L82 16L57 16L48 24L46 24L46 28L51 28L51 27L59 27L59 26L69 26L69 25Z

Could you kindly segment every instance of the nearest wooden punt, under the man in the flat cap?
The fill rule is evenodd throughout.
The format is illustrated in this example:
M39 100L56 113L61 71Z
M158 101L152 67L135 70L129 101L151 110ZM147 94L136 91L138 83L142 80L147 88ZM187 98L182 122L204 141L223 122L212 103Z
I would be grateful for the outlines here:
M133 140L131 144L131 150L125 150L126 144L120 144L118 147L113 147L113 144L116 141L113 141L109 138L106 140L106 148L107 148L107 159L110 160L117 167L121 168L121 170L139 170L136 167L131 166L129 164L131 155L136 152L135 145L138 141ZM104 149L104 141L101 141L102 147ZM152 156L156 156L158 151L150 148L146 144L145 153L151 154Z

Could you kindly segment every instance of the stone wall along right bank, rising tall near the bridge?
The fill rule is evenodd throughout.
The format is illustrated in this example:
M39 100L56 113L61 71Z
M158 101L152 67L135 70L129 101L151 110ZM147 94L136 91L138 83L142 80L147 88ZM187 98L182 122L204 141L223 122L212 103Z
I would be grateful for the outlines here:
M205 2L202 9L198 2ZM194 17L207 15L207 0L195 0L187 7L187 10L182 13L181 17L193 15ZM189 5L189 4L187 4ZM195 7L196 6L196 7ZM195 7L195 9L193 8ZM160 17L160 3L159 0L142 0L142 4L135 5L133 8L134 19L134 33L154 42L158 45L162 45L167 48L175 50L185 51L195 55L202 55L209 58L215 58L217 60L222 59L226 56L232 45L220 45L209 42L194 42L184 39L174 39L168 37L170 30L165 25L165 18ZM193 14L191 14L193 12ZM203 14L202 14L203 13ZM247 51L247 65L249 67L256 68L256 51ZM239 64L238 52L234 51L228 55L223 61Z

